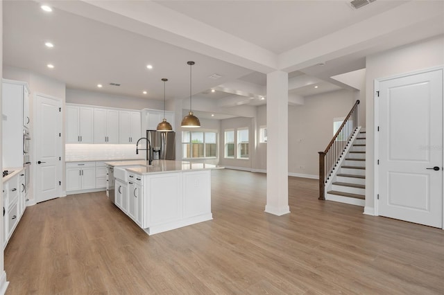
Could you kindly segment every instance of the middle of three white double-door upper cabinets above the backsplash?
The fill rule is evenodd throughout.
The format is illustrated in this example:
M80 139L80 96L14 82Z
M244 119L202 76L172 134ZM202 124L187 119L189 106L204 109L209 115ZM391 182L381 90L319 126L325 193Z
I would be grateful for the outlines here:
M94 143L119 143L119 111L94 108Z

